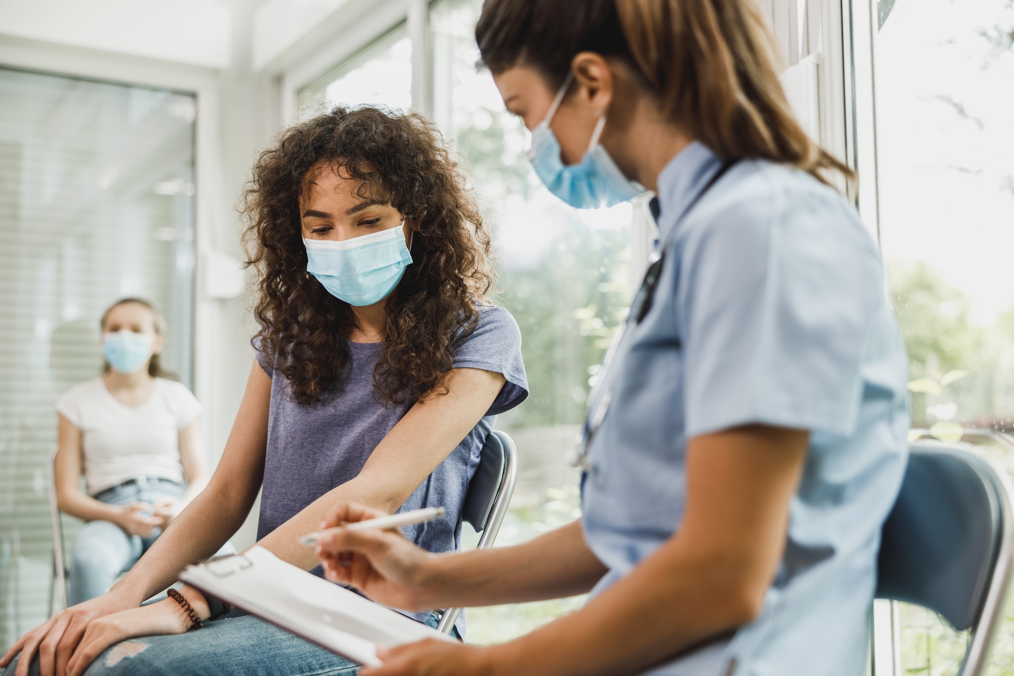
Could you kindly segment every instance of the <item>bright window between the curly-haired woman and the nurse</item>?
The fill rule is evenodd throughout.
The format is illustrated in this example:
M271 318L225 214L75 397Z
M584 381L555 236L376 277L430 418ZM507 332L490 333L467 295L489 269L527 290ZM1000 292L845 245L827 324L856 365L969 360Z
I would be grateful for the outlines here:
M456 140L494 228L501 293L521 327L531 396L497 427L517 442L518 484L498 544L530 539L580 515L568 464L602 355L630 303L632 208L578 211L550 195L524 151L529 135L477 71L480 0L433 6L436 121ZM581 599L468 610L469 643L500 643Z

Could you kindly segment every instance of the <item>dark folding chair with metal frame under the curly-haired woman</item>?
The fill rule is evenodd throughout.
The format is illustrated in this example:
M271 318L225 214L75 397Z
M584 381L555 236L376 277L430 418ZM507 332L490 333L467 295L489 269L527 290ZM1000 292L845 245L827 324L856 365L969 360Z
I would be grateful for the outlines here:
M514 495L516 479L517 448L506 433L495 430L486 438L479 467L468 483L461 508L461 521L470 524L477 533L482 533L477 549L493 546L507 514L507 505ZM450 633L459 614L460 608L444 610L437 630Z

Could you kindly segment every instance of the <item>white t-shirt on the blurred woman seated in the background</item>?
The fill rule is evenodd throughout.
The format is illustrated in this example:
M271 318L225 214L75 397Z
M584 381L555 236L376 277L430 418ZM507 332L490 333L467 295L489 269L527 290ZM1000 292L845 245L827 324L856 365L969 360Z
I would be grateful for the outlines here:
M184 483L179 431L201 415L201 403L186 385L155 378L148 400L131 407L99 377L67 390L57 410L82 433L88 495L139 476Z

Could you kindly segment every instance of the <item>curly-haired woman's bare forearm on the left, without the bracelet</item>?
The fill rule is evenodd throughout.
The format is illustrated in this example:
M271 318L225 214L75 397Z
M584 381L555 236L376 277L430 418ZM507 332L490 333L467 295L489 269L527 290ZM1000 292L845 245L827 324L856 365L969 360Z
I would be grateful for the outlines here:
M212 483L173 519L114 590L140 602L165 589L184 567L218 551L242 525L252 503L250 496L232 496Z

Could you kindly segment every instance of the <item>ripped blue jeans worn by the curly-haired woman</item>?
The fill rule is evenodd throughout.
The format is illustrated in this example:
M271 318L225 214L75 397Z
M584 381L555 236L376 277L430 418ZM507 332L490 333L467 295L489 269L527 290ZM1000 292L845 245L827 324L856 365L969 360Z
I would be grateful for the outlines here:
M436 627L431 613L426 623ZM455 631L454 635L457 635ZM15 658L3 672L14 676ZM280 629L241 610L203 628L173 635L143 636L113 646L85 676L353 676L355 662ZM39 676L39 659L30 676Z

